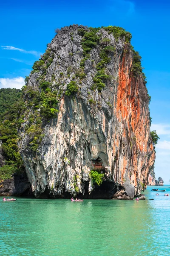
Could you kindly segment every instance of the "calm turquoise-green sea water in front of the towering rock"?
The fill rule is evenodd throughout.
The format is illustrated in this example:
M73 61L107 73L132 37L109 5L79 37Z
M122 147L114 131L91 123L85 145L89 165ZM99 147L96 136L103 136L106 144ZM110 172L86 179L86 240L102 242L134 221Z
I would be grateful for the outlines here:
M170 193L170 185L159 187ZM0 198L0 255L170 255L170 196L145 201ZM153 201L148 201L154 198Z

